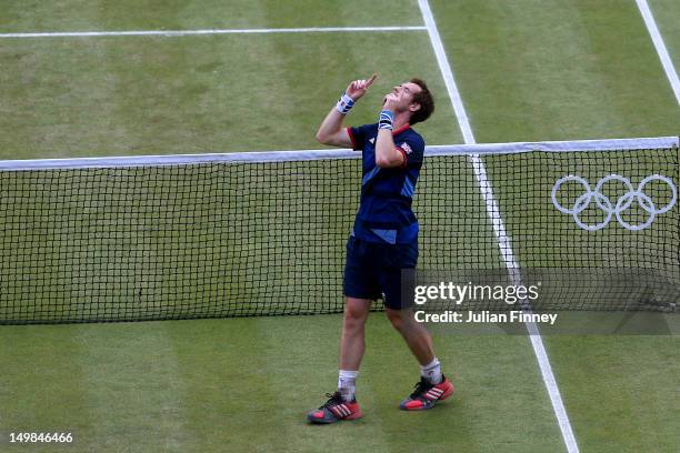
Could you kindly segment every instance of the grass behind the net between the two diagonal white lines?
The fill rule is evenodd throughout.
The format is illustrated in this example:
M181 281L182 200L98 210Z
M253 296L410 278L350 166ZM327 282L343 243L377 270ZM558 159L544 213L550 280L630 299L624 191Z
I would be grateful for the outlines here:
M674 135L633 1L433 1L479 142ZM677 23L677 21L676 21Z

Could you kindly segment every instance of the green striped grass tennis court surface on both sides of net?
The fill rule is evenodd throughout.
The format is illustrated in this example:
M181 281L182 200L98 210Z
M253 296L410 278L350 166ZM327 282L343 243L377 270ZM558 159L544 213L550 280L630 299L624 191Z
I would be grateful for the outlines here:
M680 68L680 6L649 4ZM678 134L680 107L634 1L430 6L479 142ZM423 24L418 2L401 0L3 9L0 33ZM428 144L463 142L427 30L0 38L0 159L316 149L338 94L373 71L380 79L349 122L374 121L391 83L417 74L438 100L417 129ZM507 174L489 167L500 193L516 183ZM480 199L459 202L483 209ZM474 231L479 244L494 243L488 225ZM552 256L564 244L543 245ZM497 248L479 253L500 265ZM76 442L62 450L82 452L564 451L527 336L436 332L458 391L404 413L397 404L418 366L382 313L369 320L358 382L364 419L307 425L304 412L336 383L340 321L1 326L0 450L53 451L8 435L63 431ZM581 451L680 449L678 336L543 341Z

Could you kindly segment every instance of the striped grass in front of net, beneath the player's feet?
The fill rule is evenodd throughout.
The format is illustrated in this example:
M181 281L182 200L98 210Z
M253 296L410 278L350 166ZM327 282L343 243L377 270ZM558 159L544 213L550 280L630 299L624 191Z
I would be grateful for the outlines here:
M309 426L306 411L324 401L337 378L339 323L340 316L323 315L4 328L3 431L72 431L69 451L83 452L411 452L422 445L540 452L559 445L527 338L436 335L444 371L460 390L436 410L406 413L397 406L418 366L379 313L368 323L359 379L364 419Z

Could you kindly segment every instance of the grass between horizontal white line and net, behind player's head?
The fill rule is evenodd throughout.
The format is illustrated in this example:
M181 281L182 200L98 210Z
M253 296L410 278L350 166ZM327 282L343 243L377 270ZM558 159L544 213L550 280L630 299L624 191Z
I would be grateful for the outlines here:
M379 51L403 33L3 40L0 159L319 148L348 74L372 71L351 121L374 121L391 84L417 73L442 93L419 129L459 141L428 37L407 33L408 56Z

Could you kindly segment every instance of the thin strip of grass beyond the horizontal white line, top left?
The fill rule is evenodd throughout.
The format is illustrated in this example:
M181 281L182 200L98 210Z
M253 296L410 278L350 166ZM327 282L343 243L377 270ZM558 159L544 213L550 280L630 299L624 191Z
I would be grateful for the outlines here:
M421 26L417 8L413 0L8 1L0 28L38 32Z

